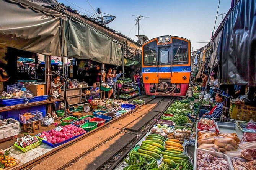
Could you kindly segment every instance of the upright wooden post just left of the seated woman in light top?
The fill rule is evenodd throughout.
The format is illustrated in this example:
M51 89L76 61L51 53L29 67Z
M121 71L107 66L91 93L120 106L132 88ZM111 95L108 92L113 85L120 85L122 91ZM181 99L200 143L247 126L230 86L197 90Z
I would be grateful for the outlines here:
M45 56L45 81L46 81L46 94L49 97L49 101L52 101L51 97L51 56L46 55ZM47 113L50 113L52 115L52 105L47 104Z

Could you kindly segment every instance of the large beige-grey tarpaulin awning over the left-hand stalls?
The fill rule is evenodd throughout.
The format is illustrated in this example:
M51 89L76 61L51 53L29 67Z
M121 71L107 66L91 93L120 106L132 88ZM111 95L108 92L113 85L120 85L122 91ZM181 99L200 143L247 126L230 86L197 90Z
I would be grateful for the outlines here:
M65 15L58 15L28 0L0 0L0 14L5 16L0 18L2 45L44 55L61 56L60 32L63 30L64 56L67 56L68 48L68 57L91 59L117 66L122 63L121 43L76 18L72 18L70 23ZM69 24L71 31L67 47Z

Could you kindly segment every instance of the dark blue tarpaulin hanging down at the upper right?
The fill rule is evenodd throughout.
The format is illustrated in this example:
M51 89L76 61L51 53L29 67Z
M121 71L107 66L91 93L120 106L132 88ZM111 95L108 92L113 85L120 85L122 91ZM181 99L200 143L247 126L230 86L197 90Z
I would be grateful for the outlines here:
M217 47L212 58L217 55L219 79L223 84L256 86L255 14L255 0L240 0L213 40L213 46Z

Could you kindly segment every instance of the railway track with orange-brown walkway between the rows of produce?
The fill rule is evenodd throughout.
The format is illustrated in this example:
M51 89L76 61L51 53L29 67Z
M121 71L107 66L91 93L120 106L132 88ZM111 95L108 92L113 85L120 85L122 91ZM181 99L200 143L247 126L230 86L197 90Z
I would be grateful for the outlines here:
M155 98L133 112L66 143L17 169L114 169L175 100Z

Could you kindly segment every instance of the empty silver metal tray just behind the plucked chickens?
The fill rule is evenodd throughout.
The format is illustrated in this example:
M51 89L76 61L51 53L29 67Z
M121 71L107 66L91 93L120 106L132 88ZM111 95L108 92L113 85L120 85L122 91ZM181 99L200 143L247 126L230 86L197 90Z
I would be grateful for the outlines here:
M243 132L236 123L216 122L216 124L218 125L218 130L220 131L220 134L236 133L240 140L243 138Z

